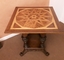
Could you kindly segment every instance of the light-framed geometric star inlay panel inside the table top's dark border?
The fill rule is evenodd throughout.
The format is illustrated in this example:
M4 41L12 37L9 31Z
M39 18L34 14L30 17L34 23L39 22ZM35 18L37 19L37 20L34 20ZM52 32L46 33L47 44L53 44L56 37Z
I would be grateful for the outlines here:
M50 8L18 8L10 29L58 29Z

